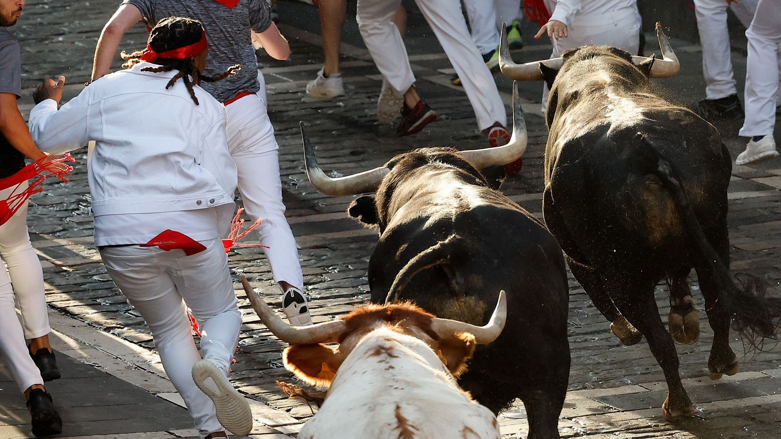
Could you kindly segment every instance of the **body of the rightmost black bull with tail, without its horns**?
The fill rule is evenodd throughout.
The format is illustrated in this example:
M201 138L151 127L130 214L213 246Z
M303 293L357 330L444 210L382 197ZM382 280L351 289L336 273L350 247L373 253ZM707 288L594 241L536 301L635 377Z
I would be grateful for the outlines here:
M665 373L666 419L694 406L680 381L678 355L654 302L671 285L669 326L676 341L699 334L686 276L697 271L715 333L712 379L737 372L730 319L772 336L765 304L729 278L727 186L732 162L719 132L693 112L654 94L650 65L633 66L616 48L565 54L547 109L543 213L576 279L622 341L647 338ZM633 325L626 325L626 320ZM634 333L633 333L634 331Z

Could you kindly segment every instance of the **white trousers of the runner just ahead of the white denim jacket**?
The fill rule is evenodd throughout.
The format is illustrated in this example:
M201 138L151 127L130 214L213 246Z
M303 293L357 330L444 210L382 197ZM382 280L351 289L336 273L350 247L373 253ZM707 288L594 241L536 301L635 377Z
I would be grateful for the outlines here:
M262 218L260 243L268 245L266 258L276 282L282 280L303 291L304 277L298 248L285 218L280 180L279 145L259 95L245 96L226 105L228 148L236 163L239 191L251 219Z

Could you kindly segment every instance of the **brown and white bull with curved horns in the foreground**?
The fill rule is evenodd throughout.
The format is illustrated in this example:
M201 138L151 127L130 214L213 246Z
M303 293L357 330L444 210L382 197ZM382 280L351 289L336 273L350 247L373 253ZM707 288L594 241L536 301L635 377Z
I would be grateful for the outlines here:
M241 283L266 327L291 344L285 367L308 384L329 388L299 439L498 439L494 414L455 378L476 344L494 341L505 327L504 291L484 327L437 319L411 303L364 305L330 322L291 327L245 277Z

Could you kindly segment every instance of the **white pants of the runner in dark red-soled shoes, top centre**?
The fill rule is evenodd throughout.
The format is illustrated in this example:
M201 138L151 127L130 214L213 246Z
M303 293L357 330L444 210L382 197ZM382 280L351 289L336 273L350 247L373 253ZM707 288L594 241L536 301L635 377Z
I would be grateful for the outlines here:
M494 77L483 62L461 13L459 0L415 0L437 36L450 63L461 78L475 111L477 127L484 130L495 122L507 125ZM391 21L401 0L358 0L358 28L380 73L399 93L415 83L407 50L398 27ZM240 177L241 178L241 177Z

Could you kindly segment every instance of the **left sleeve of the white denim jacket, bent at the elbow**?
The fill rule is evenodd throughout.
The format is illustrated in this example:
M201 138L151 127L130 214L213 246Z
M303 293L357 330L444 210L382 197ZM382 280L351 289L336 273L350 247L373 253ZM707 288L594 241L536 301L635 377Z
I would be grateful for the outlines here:
M94 140L87 134L87 95L86 90L82 91L59 111L53 99L46 99L30 110L30 134L41 151L62 154Z

